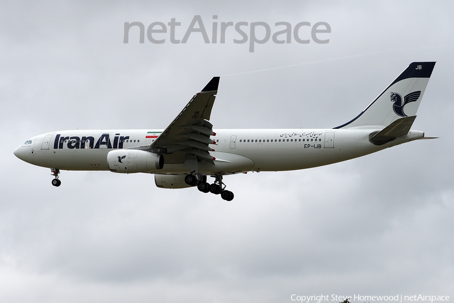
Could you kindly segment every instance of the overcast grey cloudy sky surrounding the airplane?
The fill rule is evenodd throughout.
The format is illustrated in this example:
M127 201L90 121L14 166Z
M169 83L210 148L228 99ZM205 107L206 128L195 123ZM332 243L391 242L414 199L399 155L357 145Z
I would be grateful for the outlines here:
M292 302L292 294L454 299L454 6L432 1L0 3L0 301ZM124 23L327 22L327 44L123 43ZM249 27L248 27L249 28ZM302 32L303 33L303 32ZM307 33L308 34L308 33ZM309 35L309 34L308 34ZM218 37L219 38L219 37ZM14 157L65 129L165 128L221 76L215 128L330 128L413 61L437 61L419 140L304 171L224 178L226 203L153 176L61 173ZM337 302L334 300L333 302Z

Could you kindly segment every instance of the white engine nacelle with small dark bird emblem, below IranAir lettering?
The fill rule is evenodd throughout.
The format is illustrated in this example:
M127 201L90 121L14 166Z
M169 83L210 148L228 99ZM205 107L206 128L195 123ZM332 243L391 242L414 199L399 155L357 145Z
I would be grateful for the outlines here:
M116 149L107 154L109 170L114 173L140 173L164 167L164 156L139 149Z

